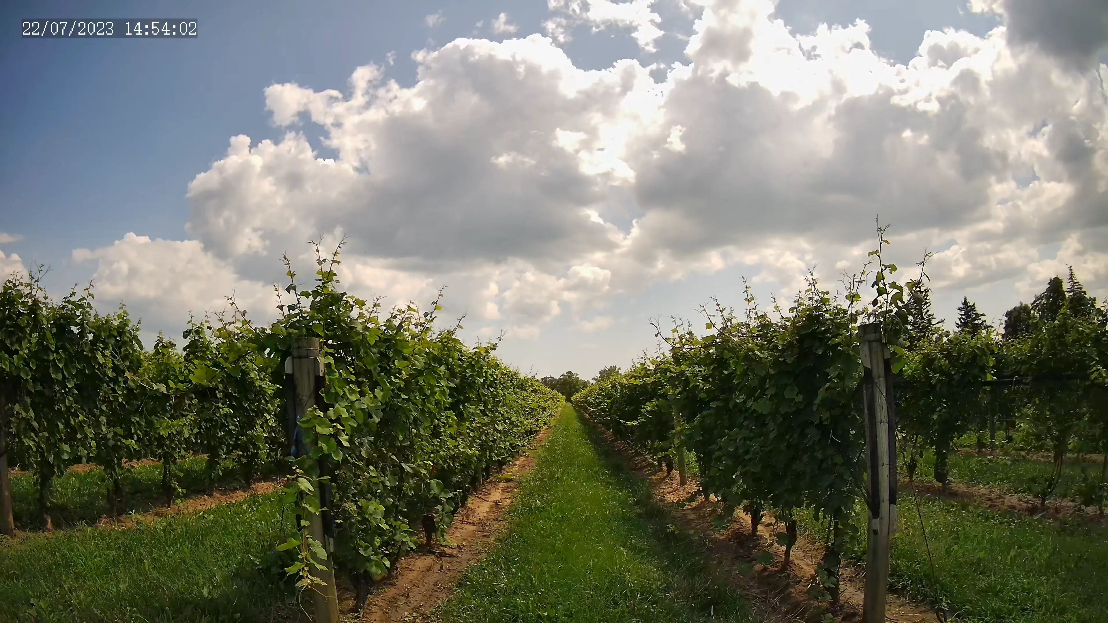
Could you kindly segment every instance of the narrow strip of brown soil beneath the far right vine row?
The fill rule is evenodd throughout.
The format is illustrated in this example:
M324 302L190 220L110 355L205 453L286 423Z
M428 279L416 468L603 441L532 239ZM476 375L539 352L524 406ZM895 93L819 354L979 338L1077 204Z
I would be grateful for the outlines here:
M1073 500L1047 500L1046 510L1039 505L1038 498L1017 493L1007 493L992 487L970 484L965 482L948 482L946 487L934 481L901 481L901 496L910 496L912 490L929 498L942 498L958 502L970 502L989 510L1014 512L1023 517L1045 518L1053 520L1079 520L1096 523L1108 523L1096 507L1086 507Z

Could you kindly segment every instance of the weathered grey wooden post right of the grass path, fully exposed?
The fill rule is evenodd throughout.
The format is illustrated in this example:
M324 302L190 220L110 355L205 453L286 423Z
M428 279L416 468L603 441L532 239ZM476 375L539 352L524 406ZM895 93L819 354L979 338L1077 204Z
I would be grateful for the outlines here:
M885 620L889 589L889 539L896 529L896 422L892 365L881 325L862 325L859 341L864 368L865 446L869 453L864 623Z

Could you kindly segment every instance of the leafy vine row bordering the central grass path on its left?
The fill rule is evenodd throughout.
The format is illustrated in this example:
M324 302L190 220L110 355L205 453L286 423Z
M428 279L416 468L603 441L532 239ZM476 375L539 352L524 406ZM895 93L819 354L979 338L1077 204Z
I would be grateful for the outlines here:
M537 379L501 362L495 344L466 346L460 326L434 329L438 302L386 313L338 288L337 252L318 258L316 282L298 289L284 315L252 344L274 361L291 355L297 337L319 337L325 361L321 406L299 431L310 452L293 462L287 488L302 511L317 512L322 484L334 491L335 563L359 600L412 550L423 531L441 535L470 492L503 467L564 402ZM281 549L298 552L288 568L310 586L321 558L301 520Z

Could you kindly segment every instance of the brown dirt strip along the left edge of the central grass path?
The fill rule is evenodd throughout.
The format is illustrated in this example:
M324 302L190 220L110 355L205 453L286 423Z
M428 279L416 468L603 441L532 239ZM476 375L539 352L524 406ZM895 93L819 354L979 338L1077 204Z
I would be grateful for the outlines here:
M449 596L465 568L484 558L495 542L504 527L504 510L515 498L519 480L534 467L534 449L546 441L548 433L550 429L538 433L531 450L470 494L447 531L449 547L440 545L434 551L421 551L401 559L397 574L369 596L361 619L355 620L367 623L409 621ZM352 605L353 600L343 601Z

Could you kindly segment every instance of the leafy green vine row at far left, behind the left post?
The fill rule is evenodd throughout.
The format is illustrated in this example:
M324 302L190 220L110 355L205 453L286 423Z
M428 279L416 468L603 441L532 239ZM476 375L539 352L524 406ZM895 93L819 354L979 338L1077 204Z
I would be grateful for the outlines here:
M247 483L271 469L284 446L276 386L243 341L245 319L191 321L183 348L160 335L145 350L125 309L102 315L92 298L89 287L54 300L31 275L0 288L0 436L9 464L34 477L40 527L52 524L55 479L79 463L104 470L112 514L125 508L127 461L162 461L166 504L174 464L194 452L207 455L209 489L228 464Z

